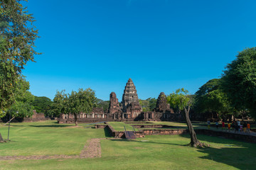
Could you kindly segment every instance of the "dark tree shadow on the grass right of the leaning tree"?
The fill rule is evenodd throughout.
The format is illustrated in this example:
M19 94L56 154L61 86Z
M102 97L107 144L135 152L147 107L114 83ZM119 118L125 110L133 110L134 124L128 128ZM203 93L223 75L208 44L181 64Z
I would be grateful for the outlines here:
M189 135L180 135L188 137ZM222 144L220 148L206 147L197 148L198 152L208 154L200 157L201 159L209 159L215 162L228 164L238 169L255 169L256 162L256 145L248 142L240 142L238 140L230 140L220 137L210 137L207 135L197 135L198 140Z

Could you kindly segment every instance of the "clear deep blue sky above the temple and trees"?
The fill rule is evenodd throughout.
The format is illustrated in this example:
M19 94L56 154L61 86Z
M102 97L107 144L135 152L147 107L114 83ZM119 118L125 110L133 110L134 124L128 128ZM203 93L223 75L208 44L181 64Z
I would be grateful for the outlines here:
M256 46L256 1L30 0L43 55L23 74L36 96L91 88L122 100L132 78L139 98L219 78L238 51Z

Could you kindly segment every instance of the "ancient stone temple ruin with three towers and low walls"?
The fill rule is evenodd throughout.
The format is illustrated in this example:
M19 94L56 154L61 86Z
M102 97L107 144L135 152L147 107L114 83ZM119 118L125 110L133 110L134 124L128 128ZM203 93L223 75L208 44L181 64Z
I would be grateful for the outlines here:
M99 122L99 121L146 121L146 120L174 120L176 118L173 109L167 103L164 92L159 94L154 111L143 112L139 105L139 98L136 87L132 79L127 81L124 87L121 106L117 95L110 94L110 106L105 113L102 108L93 108L90 113L80 113L78 115L79 123ZM60 114L58 123L74 123L74 115Z

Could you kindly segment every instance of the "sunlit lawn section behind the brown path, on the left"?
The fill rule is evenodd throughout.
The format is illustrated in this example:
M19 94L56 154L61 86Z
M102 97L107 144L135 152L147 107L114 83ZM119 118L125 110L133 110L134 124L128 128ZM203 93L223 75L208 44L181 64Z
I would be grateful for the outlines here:
M82 125L82 124L81 124ZM85 142L92 137L105 137L102 130L74 124L58 124L56 120L38 123L11 123L9 139L0 144L0 156L80 154ZM7 139L8 126L0 126Z

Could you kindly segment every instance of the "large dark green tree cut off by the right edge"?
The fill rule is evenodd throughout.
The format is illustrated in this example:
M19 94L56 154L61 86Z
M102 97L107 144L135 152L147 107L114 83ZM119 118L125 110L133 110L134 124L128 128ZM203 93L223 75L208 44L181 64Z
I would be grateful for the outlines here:
M225 67L223 91L238 111L250 110L256 118L256 47L239 52Z

